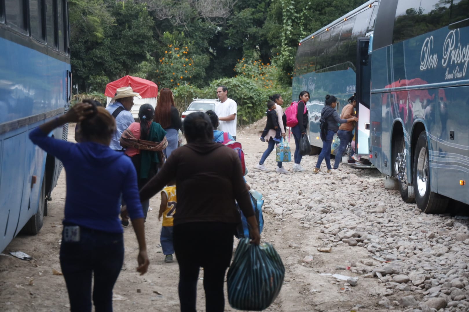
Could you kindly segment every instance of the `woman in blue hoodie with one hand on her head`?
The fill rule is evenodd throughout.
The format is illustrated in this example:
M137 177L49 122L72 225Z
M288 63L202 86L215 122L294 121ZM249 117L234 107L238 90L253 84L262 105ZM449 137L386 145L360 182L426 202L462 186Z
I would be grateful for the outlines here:
M80 122L81 143L48 136L70 122ZM135 167L124 153L109 148L115 131L106 109L79 103L30 132L31 141L61 160L67 171L60 262L71 311L91 312L93 275L95 310L112 311L113 286L124 259L121 194L140 247L137 271L144 274L149 264Z

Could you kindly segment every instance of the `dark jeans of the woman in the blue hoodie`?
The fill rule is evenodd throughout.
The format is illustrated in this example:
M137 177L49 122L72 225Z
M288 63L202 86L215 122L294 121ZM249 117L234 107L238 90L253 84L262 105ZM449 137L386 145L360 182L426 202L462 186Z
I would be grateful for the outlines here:
M64 224L64 227L66 225ZM96 312L113 311L113 287L124 261L122 233L80 227L80 241L66 242L62 235L60 264L71 312L91 312L91 279Z

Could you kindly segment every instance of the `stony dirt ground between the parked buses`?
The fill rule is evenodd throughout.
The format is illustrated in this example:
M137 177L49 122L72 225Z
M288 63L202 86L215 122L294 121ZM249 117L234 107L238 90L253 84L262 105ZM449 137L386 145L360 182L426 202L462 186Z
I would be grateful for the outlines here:
M262 121L255 123L238 138L246 179L265 199L262 239L276 248L287 271L268 311L469 311L467 217L422 213L397 191L385 190L375 169L341 165L334 174L312 174L317 156L303 158L303 173L286 163L289 173L278 174L272 153L265 162L269 171L258 171L266 148L258 139L262 128ZM41 233L19 236L3 252L21 250L33 260L0 256L0 311L68 310L63 277L53 275L60 270L64 198L62 173ZM163 263L158 206L156 196L146 223L151 265L142 277L135 272L135 235L125 230L115 311L178 311L177 263ZM204 311L202 283L197 309ZM226 311L234 310L227 304Z

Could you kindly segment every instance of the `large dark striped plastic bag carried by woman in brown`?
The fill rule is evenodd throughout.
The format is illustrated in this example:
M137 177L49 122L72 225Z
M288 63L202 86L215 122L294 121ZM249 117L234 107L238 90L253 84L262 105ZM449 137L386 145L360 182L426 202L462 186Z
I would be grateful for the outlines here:
M228 302L234 309L262 311L278 296L284 278L285 267L271 244L241 239L228 269Z

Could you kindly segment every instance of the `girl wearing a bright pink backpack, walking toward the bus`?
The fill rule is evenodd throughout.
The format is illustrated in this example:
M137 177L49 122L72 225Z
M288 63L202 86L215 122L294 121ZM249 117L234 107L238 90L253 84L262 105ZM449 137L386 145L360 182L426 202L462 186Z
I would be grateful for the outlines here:
M298 99L298 102L291 103L290 107L285 110L285 115L287 116L287 127L290 127L293 138L295 138L295 164L293 165L293 170L302 172L304 169L300 165L302 158L300 154L300 139L303 135L306 135L306 128L308 128L306 103L310 99L310 93L302 91Z

